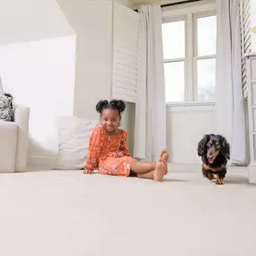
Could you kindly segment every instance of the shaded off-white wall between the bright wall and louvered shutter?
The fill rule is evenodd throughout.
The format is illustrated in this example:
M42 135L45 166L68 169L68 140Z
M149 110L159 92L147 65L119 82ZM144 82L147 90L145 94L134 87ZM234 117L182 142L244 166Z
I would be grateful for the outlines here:
M110 1L57 0L77 34L74 114L97 119L96 103L110 99Z

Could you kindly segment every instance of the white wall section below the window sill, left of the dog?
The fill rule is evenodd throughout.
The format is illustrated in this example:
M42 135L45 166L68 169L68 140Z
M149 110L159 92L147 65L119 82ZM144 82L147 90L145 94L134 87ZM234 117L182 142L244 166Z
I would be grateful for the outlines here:
M190 107L168 110L167 149L172 163L201 163L197 148L199 140L215 132L214 107Z

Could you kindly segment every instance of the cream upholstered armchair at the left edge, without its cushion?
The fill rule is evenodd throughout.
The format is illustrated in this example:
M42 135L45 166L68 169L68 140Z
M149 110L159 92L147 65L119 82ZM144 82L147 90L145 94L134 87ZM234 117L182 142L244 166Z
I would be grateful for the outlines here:
M0 172L23 172L27 167L30 109L18 105L14 121L0 121Z

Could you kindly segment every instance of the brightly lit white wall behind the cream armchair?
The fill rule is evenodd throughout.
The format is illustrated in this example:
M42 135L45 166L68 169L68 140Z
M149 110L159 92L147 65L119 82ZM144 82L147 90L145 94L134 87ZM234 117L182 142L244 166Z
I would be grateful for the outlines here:
M0 75L31 108L29 154L56 154L56 118L74 110L75 36L0 46Z

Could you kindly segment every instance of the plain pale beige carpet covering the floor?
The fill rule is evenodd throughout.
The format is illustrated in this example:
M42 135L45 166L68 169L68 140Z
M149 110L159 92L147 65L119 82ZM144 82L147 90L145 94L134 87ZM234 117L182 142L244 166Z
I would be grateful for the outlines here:
M163 183L82 172L0 175L3 256L255 256L256 186L229 172Z

